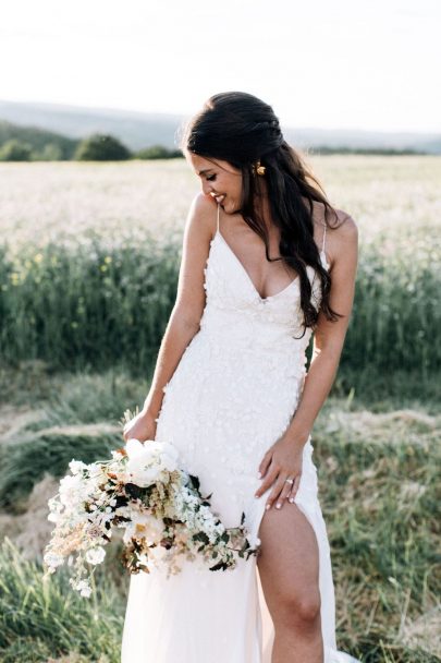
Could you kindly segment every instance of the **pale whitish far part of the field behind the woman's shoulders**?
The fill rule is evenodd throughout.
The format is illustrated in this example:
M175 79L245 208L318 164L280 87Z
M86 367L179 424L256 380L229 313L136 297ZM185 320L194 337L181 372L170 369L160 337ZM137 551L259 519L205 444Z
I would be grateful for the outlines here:
M441 157L310 156L329 200L356 219L360 245L378 233L441 226ZM0 219L12 250L98 232L117 243L182 230L199 179L184 159L121 164L0 164ZM391 245L393 251L393 245Z

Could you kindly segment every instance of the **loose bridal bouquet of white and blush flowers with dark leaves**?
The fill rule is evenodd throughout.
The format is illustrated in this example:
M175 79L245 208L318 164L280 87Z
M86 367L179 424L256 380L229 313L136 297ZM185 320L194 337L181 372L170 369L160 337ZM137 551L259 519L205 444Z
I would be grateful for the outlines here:
M89 596L114 528L124 530L123 563L130 572L149 572L151 563L166 568L169 578L181 570L182 556L225 570L236 566L237 556L257 554L260 541L253 546L247 539L245 514L240 527L225 529L210 510L211 495L203 497L198 478L179 468L177 456L170 443L128 439L109 460L72 459L71 473L48 502L56 527L45 550L45 577L66 562L71 586Z

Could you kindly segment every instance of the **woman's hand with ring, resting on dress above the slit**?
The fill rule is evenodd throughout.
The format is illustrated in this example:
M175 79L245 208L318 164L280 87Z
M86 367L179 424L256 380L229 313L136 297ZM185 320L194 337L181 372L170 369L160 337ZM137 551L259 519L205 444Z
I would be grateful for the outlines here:
M259 465L264 482L256 492L256 497L260 497L273 484L267 501L267 509L275 501L278 509L282 508L285 499L294 503L301 483L302 467L303 445L296 445L292 439L281 437L268 449ZM294 483L287 483L286 479L294 480Z

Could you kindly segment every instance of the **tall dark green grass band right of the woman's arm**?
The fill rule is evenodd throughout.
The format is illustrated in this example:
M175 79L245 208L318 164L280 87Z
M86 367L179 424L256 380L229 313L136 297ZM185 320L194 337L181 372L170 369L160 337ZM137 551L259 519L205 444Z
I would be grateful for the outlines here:
M360 248L342 366L417 371L441 366L441 238L380 232Z

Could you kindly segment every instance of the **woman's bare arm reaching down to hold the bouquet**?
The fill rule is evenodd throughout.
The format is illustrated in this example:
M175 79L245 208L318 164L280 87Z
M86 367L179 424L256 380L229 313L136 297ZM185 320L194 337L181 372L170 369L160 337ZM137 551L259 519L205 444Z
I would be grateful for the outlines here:
M171 379L185 348L199 329L206 303L204 268L215 222L213 201L198 193L192 202L185 222L176 300L158 351L150 389L139 413L149 421L158 417L163 387ZM130 424L126 424L126 429L125 439L134 433L136 435Z

